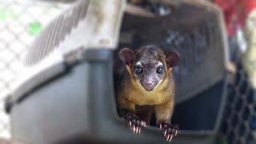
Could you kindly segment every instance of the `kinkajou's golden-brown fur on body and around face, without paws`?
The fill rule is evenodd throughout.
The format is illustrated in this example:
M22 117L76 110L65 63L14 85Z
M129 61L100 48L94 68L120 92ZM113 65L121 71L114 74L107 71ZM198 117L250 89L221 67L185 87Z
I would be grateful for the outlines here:
M135 52L135 59L140 58L143 50ZM138 115L149 125L150 116L154 112L157 125L160 122L170 123L174 108L174 79L172 68L166 66L166 54L158 51L166 70L165 77L152 91L146 91L134 78L133 66L122 65L118 58L114 64L114 87L118 114L125 117L127 113ZM152 62L154 59L152 59Z

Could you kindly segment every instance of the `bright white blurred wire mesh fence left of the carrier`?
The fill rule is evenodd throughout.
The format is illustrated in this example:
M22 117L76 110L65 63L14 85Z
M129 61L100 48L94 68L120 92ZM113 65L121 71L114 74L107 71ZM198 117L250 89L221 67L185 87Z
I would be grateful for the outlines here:
M0 137L10 137L4 99L22 69L22 55L50 19L70 4L33 0L0 0Z

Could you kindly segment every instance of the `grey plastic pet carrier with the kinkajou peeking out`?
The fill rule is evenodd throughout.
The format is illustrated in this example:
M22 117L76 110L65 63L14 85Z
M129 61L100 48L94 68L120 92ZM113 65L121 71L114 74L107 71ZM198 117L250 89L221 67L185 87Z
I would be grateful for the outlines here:
M166 142L155 126L133 134L118 117L114 99L115 52L154 43L181 57L174 69L172 118L179 133L172 143L214 143L228 75L222 14L204 1L154 2L149 8L120 0L80 0L52 20L27 51L25 70L6 101L13 138Z

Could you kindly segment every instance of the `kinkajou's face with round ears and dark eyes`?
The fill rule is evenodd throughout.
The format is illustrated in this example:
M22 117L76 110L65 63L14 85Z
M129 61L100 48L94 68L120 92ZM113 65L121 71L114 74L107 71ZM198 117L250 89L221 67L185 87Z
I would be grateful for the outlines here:
M178 53L166 56L156 46L144 46L135 53L128 48L120 51L122 62L130 66L135 82L146 91L155 90L170 70L178 63Z

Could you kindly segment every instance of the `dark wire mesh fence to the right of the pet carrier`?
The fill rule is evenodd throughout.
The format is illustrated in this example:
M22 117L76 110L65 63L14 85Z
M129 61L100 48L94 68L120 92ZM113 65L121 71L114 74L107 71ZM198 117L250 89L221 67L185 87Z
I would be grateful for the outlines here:
M248 76L240 62L230 83L226 114L222 123L222 132L229 144L256 143L254 137L255 109L254 89L248 82Z

